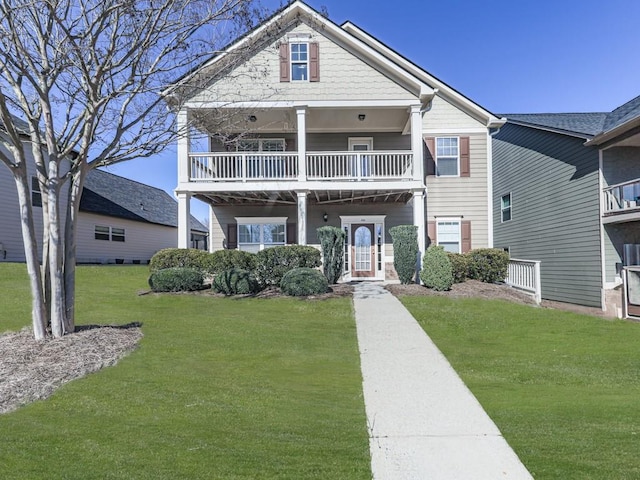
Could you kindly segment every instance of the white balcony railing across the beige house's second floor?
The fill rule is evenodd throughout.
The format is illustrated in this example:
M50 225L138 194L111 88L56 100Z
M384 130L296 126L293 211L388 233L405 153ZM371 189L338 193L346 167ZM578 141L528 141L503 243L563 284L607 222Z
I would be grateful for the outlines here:
M190 180L247 182L297 180L296 152L189 154ZM309 152L306 180L411 180L413 154L391 152Z

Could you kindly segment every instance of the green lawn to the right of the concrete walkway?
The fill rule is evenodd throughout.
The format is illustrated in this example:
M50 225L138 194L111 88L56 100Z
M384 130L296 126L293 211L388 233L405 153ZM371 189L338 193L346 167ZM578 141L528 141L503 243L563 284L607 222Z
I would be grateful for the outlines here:
M640 478L640 324L404 297L536 479Z

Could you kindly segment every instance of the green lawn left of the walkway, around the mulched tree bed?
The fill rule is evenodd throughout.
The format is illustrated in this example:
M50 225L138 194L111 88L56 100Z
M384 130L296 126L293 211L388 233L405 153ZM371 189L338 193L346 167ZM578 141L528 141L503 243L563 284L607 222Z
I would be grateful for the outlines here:
M29 323L23 269L0 265L0 331ZM79 268L78 323L145 337L0 416L3 479L371 478L349 299L137 296L146 276Z

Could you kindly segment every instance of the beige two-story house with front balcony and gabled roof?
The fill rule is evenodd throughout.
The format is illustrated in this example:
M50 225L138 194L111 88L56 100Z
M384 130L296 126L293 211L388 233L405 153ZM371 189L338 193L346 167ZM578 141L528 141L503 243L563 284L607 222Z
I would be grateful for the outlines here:
M490 133L504 120L353 23L293 2L165 95L184 105L180 128L209 139L209 152L178 141L181 247L191 197L210 205L211 250L317 246L318 227L343 229L345 280L394 275L396 225L418 227L421 253L427 236L493 244Z

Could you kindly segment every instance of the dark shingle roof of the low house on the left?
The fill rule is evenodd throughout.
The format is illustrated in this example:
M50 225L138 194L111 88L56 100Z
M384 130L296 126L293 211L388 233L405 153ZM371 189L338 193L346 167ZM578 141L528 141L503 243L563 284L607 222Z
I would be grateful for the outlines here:
M92 170L87 175L80 210L137 222L178 226L178 203L167 192L103 170ZM190 224L192 230L207 231L193 216Z

